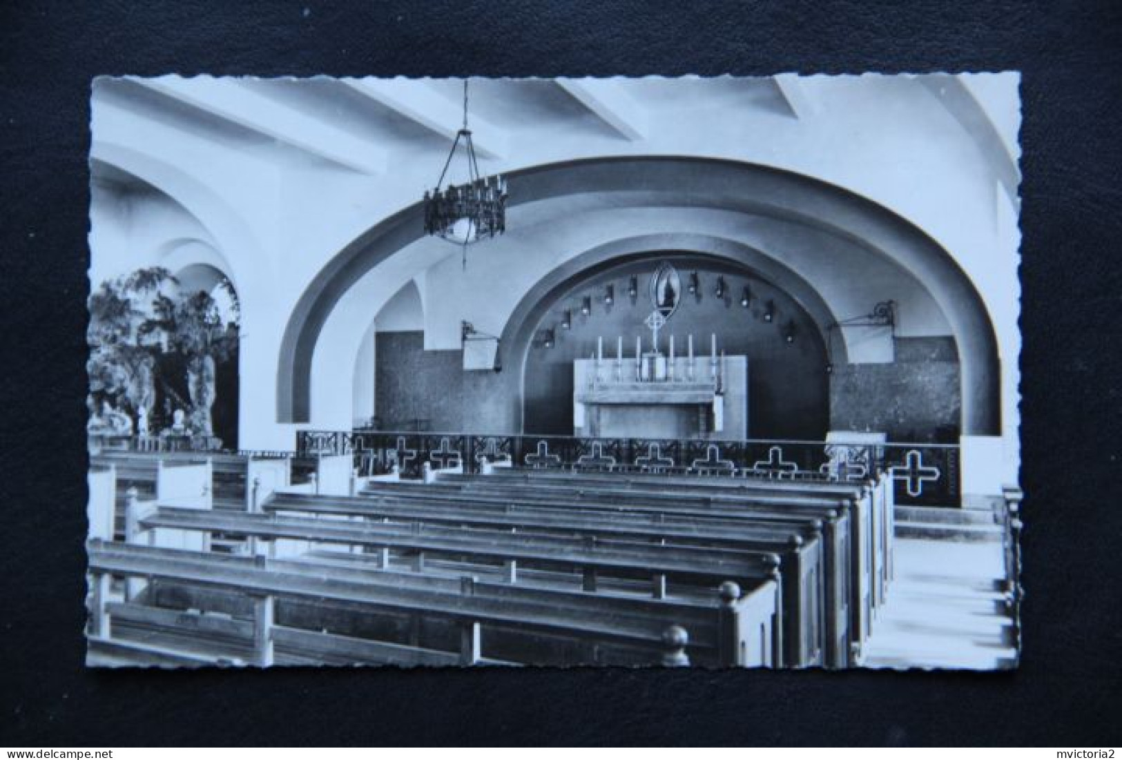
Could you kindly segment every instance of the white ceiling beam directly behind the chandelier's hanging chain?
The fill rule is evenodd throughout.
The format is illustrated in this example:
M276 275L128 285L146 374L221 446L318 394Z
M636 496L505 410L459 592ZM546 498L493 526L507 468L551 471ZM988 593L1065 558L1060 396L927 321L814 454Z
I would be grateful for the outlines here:
M346 78L342 82L449 142L456 139L456 133L463 123L460 104L449 101L431 85L405 78ZM507 154L509 135L506 130L472 113L470 108L468 123L476 152L485 158L503 158Z

